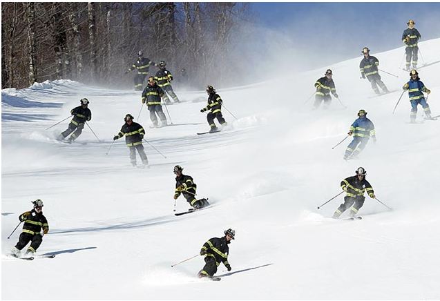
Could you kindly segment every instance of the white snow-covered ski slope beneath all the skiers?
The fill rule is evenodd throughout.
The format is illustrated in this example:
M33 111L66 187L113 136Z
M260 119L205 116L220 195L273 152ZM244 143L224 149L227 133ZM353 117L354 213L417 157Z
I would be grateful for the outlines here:
M438 61L440 39L424 41L423 58ZM2 90L1 297L39 300L84 299L439 299L440 122L408 124L408 81L399 68L403 48L372 53L394 93L373 96L359 79L361 57L271 82L218 91L229 126L208 130L200 108L204 92L176 91L182 104L169 106L176 126L150 129L148 113L138 122L151 168L132 168L123 139L111 147L126 113L137 117L140 93L108 90L61 80L23 90ZM312 111L313 85L327 68L344 109ZM440 112L440 64L420 70L431 89L433 115ZM207 83L209 84L209 83ZM93 119L72 145L55 141L68 117L87 97ZM377 144L360 159L343 161L341 141L359 109L376 126ZM419 109L419 119L421 119ZM139 159L139 158L138 158ZM173 166L198 184L198 196L215 204L198 213L173 215ZM361 221L329 217L342 202L341 179L358 166L376 196L367 197ZM55 259L14 260L17 217L44 200L50 233L40 254ZM182 197L178 211L189 208ZM195 278L202 258L171 268L198 254L211 237L236 229L228 273L220 282ZM31 285L29 285L31 283Z

